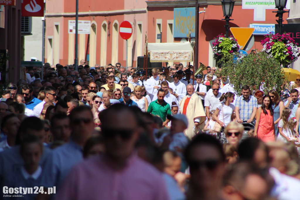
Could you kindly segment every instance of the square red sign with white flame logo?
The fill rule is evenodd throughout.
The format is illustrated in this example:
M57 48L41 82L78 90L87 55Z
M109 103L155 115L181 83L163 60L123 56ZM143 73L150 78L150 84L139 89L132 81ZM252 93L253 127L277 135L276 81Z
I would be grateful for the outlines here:
M44 0L23 0L23 17L44 17Z

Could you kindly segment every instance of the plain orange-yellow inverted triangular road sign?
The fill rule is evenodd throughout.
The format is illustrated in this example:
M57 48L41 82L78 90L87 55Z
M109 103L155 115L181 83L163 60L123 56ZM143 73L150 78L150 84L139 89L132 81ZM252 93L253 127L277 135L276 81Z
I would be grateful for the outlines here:
M243 49L254 32L254 28L231 27L230 31L233 37L238 41L238 45Z

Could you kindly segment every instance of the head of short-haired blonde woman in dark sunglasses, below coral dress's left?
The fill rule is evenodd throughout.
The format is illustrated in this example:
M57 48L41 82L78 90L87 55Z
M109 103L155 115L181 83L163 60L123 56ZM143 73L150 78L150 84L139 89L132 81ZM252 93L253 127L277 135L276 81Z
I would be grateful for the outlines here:
M232 144L233 147L238 149L238 144L243 136L243 132L243 125L238 122L230 122L224 130L228 144Z

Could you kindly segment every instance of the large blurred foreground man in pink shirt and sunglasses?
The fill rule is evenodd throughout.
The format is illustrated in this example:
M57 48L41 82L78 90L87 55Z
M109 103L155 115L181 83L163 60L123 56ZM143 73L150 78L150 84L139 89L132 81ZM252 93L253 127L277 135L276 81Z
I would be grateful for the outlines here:
M169 199L162 175L135 152L141 134L137 114L114 104L99 119L106 152L76 165L57 199Z

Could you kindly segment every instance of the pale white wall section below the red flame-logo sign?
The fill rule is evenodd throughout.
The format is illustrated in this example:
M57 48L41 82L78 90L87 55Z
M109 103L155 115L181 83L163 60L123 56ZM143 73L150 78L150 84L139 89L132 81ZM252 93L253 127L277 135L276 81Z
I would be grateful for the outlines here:
M42 61L43 47L43 21L42 17L32 17L32 35L24 36L25 61L30 61L31 57L36 57Z

